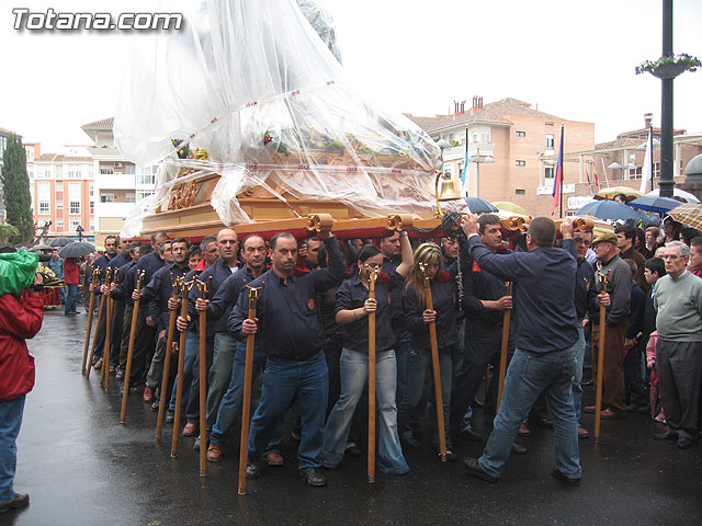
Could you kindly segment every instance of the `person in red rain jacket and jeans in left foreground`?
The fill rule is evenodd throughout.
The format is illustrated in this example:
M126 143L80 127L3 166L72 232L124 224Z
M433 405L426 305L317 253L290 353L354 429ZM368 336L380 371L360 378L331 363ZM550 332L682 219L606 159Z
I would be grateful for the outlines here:
M36 274L36 287L0 296L0 514L30 504L30 495L15 493L12 481L24 399L34 387L34 358L25 340L42 329L44 302L37 289L43 283Z

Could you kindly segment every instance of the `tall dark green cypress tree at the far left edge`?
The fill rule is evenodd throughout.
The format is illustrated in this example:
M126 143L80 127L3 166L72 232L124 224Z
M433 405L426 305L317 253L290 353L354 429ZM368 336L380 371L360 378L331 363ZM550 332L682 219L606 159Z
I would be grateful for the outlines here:
M2 162L5 220L20 230L19 236L10 237L10 242L13 244L30 243L34 239L30 178L26 174L26 152L22 140L16 135L9 137Z

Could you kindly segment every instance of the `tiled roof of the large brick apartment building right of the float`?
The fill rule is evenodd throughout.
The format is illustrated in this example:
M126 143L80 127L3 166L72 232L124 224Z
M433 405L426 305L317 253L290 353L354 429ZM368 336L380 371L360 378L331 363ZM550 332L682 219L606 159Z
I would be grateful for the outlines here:
M499 123L511 124L510 115L533 115L548 119L561 119L555 115L533 110L531 104L519 99L507 98L497 102L490 102L483 106L483 111L471 115L471 110L464 114L455 115L437 115L434 117L421 117L405 114L409 119L415 122L427 133L438 132L440 129L468 124L468 123Z

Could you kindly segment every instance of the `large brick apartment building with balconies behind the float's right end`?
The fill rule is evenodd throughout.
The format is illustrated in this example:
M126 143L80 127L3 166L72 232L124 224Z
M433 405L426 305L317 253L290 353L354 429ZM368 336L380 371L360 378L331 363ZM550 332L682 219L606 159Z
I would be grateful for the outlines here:
M464 102L456 102L451 115L407 116L434 140L443 138L451 144L443 151L444 170L451 174L463 171L467 137L473 161L468 167L468 195L490 202L509 201L533 215L551 214L561 126L565 130L566 155L595 149L593 123L557 117L517 99L484 105L482 96L474 96L467 111ZM475 162L478 159L482 162ZM564 162L564 174L566 184L576 183L585 179L585 165L577 159Z

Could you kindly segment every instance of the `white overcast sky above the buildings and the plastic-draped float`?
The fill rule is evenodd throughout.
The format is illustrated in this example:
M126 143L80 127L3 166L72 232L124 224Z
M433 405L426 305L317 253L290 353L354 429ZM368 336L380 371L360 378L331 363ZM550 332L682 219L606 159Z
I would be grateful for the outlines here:
M512 96L593 122L597 141L643 127L647 112L660 123L660 81L634 67L661 54L661 0L317 2L335 19L348 72L389 110L434 115L454 99L469 106L473 95L485 103ZM702 57L702 1L673 4L673 50ZM45 152L90 144L80 126L114 115L128 41L139 36L18 32L15 7L120 13L150 3L2 2L0 127L42 142ZM676 128L702 132L701 93L702 71L675 81Z

